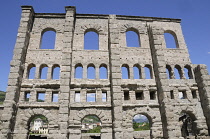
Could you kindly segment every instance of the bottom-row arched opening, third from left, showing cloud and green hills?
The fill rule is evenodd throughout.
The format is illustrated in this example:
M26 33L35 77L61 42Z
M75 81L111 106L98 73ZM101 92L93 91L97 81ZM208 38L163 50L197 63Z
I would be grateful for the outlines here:
M143 114L137 114L133 117L133 129L134 131L150 130L151 123L147 116Z

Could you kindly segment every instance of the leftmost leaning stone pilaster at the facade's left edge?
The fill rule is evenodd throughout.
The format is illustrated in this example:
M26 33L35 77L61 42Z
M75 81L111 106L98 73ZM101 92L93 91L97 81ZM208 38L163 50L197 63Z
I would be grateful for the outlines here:
M18 29L17 40L14 49L13 59L10 63L10 75L4 111L2 114L1 139L12 138L17 114L17 102L19 100L20 85L23 78L23 64L30 39L30 31L33 24L34 10L31 6L22 6L22 15Z

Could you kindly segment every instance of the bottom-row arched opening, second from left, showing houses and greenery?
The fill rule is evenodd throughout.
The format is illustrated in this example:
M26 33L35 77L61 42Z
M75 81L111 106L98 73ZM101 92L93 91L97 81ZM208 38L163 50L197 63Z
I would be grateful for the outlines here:
M87 115L82 119L82 133L101 133L102 123L95 115ZM96 138L97 136L93 137ZM100 135L98 135L100 137Z

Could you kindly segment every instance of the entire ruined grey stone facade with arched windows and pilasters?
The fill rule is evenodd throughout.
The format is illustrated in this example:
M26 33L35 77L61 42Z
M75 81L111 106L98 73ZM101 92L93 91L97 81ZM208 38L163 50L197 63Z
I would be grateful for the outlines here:
M122 15L76 14L75 7L66 13L35 13L22 6L6 100L0 111L0 138L26 139L29 123L36 115L49 121L49 139L89 138L81 133L81 121L87 115L97 116L102 123L102 139L184 138L181 113L193 120L194 135L209 138L210 76L205 65L191 63L182 34L180 19ZM45 31L56 32L54 49L40 49ZM99 50L84 50L84 34L94 31L99 36ZM126 32L135 31L141 47L126 46ZM177 48L166 47L164 33L173 35ZM83 67L83 78L75 78L75 69ZM95 67L96 78L87 78L87 68ZM40 79L42 67L48 67L47 79ZM100 79L99 69L107 68L108 79ZM141 71L134 79L133 67ZM28 79L36 67L35 79ZM54 67L60 67L60 79L52 79ZM122 79L121 67L129 71ZM144 67L151 79L145 78ZM174 68L180 79L175 79ZM190 79L185 77L188 69ZM170 79L167 78L167 71ZM29 101L25 93L30 93ZM45 93L45 101L37 102L37 93ZM59 96L52 102L53 92ZM75 93L80 92L80 102ZM87 102L87 92L96 93L96 102ZM102 101L102 92L107 100ZM129 93L125 99L125 92ZM138 100L137 92L144 97ZM182 92L184 99L180 99ZM144 114L150 130L134 131L132 120Z

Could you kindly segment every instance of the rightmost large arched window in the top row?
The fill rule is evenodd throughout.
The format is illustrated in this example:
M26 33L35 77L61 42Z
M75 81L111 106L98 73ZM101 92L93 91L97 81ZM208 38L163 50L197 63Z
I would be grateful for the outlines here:
M164 33L166 48L179 48L177 36L173 31L167 30Z

